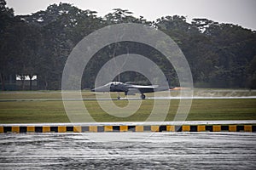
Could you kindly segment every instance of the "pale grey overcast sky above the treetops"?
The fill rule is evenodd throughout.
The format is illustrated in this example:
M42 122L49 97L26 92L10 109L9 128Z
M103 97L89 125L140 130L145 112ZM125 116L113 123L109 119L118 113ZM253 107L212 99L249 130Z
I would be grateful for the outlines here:
M134 16L156 20L166 15L207 18L220 23L231 23L256 31L255 0L6 0L15 14L32 14L45 10L49 4L72 3L81 9L90 9L104 16L113 8L128 9Z

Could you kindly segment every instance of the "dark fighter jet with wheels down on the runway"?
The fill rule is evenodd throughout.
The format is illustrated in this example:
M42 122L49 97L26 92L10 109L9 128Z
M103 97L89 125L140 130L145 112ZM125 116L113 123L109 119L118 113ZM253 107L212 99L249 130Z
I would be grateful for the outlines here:
M141 99L146 99L145 93L152 93L157 91L166 91L169 87L159 87L159 85L137 85L131 82L108 82L107 84L91 89L92 92L124 92L127 94L141 94ZM120 99L120 96L118 96Z

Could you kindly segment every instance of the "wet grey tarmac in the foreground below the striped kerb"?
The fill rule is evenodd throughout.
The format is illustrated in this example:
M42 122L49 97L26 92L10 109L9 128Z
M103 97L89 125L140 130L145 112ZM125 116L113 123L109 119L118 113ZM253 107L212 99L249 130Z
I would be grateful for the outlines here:
M1 169L256 169L256 133L3 133Z

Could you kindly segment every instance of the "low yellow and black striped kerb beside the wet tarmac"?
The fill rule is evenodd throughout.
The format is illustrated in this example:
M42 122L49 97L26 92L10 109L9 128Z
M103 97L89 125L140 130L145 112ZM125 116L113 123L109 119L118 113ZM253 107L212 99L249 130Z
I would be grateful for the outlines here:
M0 133L256 132L256 125L0 126Z

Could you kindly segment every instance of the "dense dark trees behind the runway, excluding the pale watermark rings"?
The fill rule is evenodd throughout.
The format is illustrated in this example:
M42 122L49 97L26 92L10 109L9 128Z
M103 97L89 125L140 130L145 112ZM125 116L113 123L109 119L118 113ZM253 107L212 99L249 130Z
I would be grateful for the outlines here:
M189 62L195 87L256 88L256 31L207 19L187 22L184 16L166 16L148 21L128 10L114 8L99 17L68 3L52 4L46 10L15 15L0 0L0 82L6 90L9 75L38 76L38 89L61 89L61 75L68 55L91 32L119 23L140 23L165 32L182 49ZM170 81L178 86L175 70L161 54L145 44L117 42L102 48L84 69L81 88L94 86L97 71L119 54L142 54L153 59ZM121 74L122 82L148 83L136 72Z

